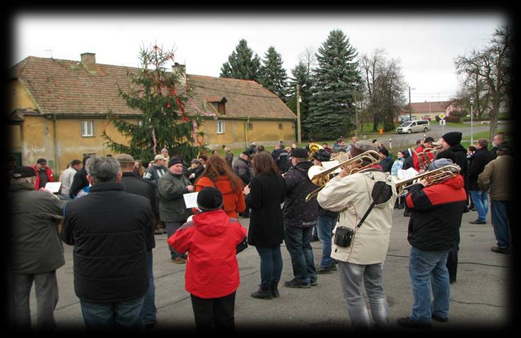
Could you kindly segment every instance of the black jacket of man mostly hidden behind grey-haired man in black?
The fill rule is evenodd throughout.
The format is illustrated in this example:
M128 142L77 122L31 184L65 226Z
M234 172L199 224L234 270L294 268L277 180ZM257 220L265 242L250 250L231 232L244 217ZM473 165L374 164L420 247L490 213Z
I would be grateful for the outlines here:
M123 173L121 185L123 186L123 190L127 191L127 193L143 196L150 201L154 215L154 219L151 219L151 222L152 224L156 224L157 219L159 219L158 187L151 181L139 178L133 172ZM153 248L156 248L156 239L154 239L154 236L148 236L146 249L152 250Z

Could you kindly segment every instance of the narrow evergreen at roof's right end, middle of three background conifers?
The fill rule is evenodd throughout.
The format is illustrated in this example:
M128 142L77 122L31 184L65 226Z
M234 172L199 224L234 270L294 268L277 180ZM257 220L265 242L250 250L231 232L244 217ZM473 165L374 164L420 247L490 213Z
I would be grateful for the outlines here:
M282 56L275 47L269 47L262 60L259 83L286 102L287 80L286 69L282 66Z

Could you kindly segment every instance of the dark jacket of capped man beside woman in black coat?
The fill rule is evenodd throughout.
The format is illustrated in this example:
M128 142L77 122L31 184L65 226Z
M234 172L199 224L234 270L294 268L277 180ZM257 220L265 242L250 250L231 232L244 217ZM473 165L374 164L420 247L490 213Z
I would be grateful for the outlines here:
M317 224L317 199L305 201L308 193L318 188L308 178L308 170L312 165L309 161L299 162L284 176L288 189L282 210L285 226L308 228Z

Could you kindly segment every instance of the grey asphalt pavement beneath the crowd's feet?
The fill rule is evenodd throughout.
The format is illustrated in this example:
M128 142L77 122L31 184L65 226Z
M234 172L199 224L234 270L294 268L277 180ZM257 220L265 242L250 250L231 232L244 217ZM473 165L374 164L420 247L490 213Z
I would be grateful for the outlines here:
M434 322L433 330L502 330L513 322L515 308L510 306L513 294L510 281L513 278L511 255L491 252L496 244L490 223L474 225L476 212L463 215L460 229L459 265L457 283L451 284L450 317L446 323ZM240 219L246 228L249 219ZM390 310L390 330L398 330L396 320L409 315L412 292L409 282L408 257L410 246L406 241L408 217L403 210L394 210L389 251L385 260L383 285ZM66 264L57 270L59 302L55 311L57 331L81 330L83 319L80 303L74 294L72 247L64 245ZM312 243L315 262L320 262L322 246ZM280 298L272 300L250 297L260 282L259 255L250 246L238 254L240 287L235 298L235 326L238 333L255 330L281 332L302 330L313 332L351 329L346 302L342 296L338 272L320 274L317 286L310 289L289 289L282 286L293 278L291 260L286 247L281 248L283 273L279 284ZM156 283L158 322L148 333L172 330L194 332L194 315L190 296L185 291L185 265L170 261L166 235L156 235L153 249L153 272ZM369 303L366 299L366 303ZM35 297L31 297L32 319L35 323ZM177 330L177 331L176 331ZM402 332L400 330L400 332ZM417 332L404 329L404 334Z

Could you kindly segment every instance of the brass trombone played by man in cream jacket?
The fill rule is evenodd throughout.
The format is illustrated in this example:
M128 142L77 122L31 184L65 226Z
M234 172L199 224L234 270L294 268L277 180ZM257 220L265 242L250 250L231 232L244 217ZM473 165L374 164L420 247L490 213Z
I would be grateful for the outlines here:
M333 172L336 171L336 169L346 169L348 175L351 175L373 164L377 164L378 162L382 161L382 159L382 155L380 155L378 152L375 152L375 150L368 150L353 158L340 157L339 164L329 169L325 169L322 166L310 167L310 169L308 170L308 177L310 181L312 181L312 183L314 183L317 186L320 186L320 188L317 188L311 193L308 193L308 195L305 198L305 201L309 202L310 200L312 200L312 198L317 197L318 193L320 193L324 186L326 186L327 182L329 182L329 179L331 178L330 175L333 174ZM370 164L364 166L363 162L370 162Z

